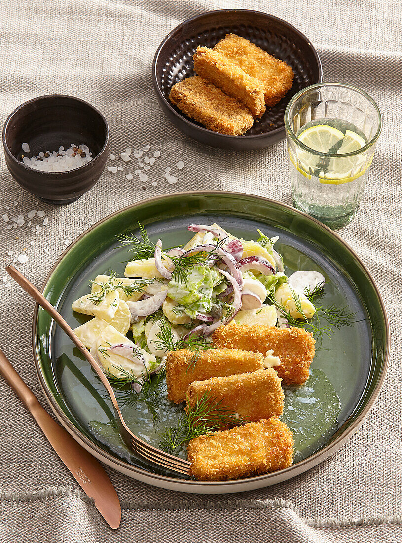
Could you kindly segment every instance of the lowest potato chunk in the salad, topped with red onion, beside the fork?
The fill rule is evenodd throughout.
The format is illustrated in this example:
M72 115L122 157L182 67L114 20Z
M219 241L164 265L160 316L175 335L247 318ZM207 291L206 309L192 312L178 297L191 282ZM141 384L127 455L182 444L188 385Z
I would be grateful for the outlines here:
M144 362L141 358L133 361L125 356L108 351L112 345L116 344L127 345L129 348L134 349L135 352L138 352L143 357ZM95 340L95 343L91 347L91 355L99 361L106 371L117 377L124 375L124 371L133 374L135 377L139 377L145 369L149 369L152 364L156 363L155 356L141 349L141 347L130 341L130 339L123 336L122 333L110 325L106 326Z

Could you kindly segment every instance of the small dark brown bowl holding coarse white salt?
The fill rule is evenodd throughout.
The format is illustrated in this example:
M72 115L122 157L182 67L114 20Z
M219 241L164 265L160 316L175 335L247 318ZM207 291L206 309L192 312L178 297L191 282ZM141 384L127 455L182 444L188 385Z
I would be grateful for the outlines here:
M22 150L28 143L29 153ZM67 172L41 172L29 168L22 157L41 151L67 149L71 143L85 144L93 160ZM107 160L109 127L91 104L63 94L50 94L25 102L8 117L3 128L7 167L22 187L51 204L78 200L98 181Z

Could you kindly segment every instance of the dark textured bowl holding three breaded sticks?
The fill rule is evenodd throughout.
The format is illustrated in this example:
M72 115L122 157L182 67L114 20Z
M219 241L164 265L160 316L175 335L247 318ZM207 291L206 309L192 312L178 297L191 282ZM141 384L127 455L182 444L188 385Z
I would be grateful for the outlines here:
M218 134L193 121L169 101L171 87L194 75L193 54L198 46L213 47L227 33L245 37L295 72L293 86L278 104L267 109L244 136ZM208 11L179 24L155 54L152 79L159 104L176 127L195 140L222 149L261 149L285 137L286 105L305 87L322 81L321 61L310 41L297 28L273 15L246 9Z

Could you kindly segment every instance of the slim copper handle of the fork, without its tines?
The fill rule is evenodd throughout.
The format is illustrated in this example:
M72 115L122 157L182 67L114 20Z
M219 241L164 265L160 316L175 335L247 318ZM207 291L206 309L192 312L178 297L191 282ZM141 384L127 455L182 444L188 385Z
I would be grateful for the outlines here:
M21 273L21 271L18 271L17 268L12 266L12 264L8 264L8 266L6 266L5 269L7 273L12 277L12 279L14 279L14 281L16 281L18 285L20 285L24 289L24 291L27 292L31 296L31 298L33 298L40 306L42 306L43 309L46 310L51 317L53 317L56 323L58 323L61 329L66 332L67 336L72 340L72 342L80 350L80 352L82 353L82 356L84 356L87 359L87 361L91 364L92 368L97 373L98 377L100 378L101 382L106 388L107 393L110 396L110 399L112 400L113 407L117 409L117 411L119 412L120 409L116 400L116 396L114 395L113 389L109 381L107 380L99 364L95 361L91 353L85 347L84 343L82 343L81 340L78 338L78 336L75 335L71 327L63 319L60 313L58 313L55 310L55 308L52 306L52 304L50 304L50 302L43 296L43 294L41 294L37 290L37 288L35 288L34 285L28 281L27 277L25 277Z

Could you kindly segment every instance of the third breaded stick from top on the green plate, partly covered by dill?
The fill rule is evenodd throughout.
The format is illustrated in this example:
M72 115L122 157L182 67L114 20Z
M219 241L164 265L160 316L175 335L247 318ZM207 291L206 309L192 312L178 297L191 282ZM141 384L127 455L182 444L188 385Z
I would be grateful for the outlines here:
M227 407L246 422L269 419L283 413L284 394L280 381L273 368L194 381L187 389L187 407L194 407L207 393L210 403Z

